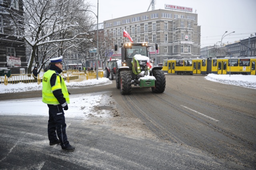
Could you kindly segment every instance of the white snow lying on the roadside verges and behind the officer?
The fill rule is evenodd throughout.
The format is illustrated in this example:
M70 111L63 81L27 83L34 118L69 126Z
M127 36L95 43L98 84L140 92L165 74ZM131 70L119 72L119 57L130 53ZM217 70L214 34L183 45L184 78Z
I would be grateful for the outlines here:
M208 74L206 80L220 82L224 84L232 84L236 86L243 86L247 88L256 89L256 76L252 75L217 75ZM66 83L68 88L80 88L90 86L98 86L104 84L111 84L112 81L108 78L99 78L98 80L86 80L84 82L71 82ZM42 90L42 84L0 84L0 97L1 93L15 93L24 92L29 90ZM67 118L84 118L87 119L90 115L108 117L109 114L105 110L101 110L102 114L94 112L94 106L99 105L101 100L108 97L106 94L83 94L83 95L70 95L70 104L68 110L65 111ZM0 115L24 115L24 116L48 116L48 107L42 102L42 98L22 99L22 100L9 100L0 101ZM30 108L30 109L28 109Z

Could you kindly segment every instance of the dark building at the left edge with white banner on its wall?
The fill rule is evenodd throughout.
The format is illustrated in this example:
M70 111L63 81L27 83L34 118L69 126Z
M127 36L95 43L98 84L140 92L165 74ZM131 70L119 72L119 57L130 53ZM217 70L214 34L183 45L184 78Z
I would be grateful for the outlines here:
M19 0L0 0L0 68L8 68L12 74L17 74L20 68L26 69L28 63L24 40L12 36L16 30L10 11L12 15L23 14Z

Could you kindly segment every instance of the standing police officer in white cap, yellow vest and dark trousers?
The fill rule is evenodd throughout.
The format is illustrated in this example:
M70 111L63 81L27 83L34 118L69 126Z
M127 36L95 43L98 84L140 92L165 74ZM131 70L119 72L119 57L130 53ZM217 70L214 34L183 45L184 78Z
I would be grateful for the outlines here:
M50 68L43 76L42 101L49 108L48 138L50 145L60 144L66 151L74 151L75 147L68 142L64 110L68 110L69 95L66 84L60 76L62 72L62 56L50 59ZM56 135L57 132L57 135ZM58 138L57 138L58 136Z

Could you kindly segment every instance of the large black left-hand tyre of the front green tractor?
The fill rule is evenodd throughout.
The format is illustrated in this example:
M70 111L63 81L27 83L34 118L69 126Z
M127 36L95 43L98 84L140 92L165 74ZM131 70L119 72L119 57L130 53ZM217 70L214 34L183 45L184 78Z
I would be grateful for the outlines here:
M129 71L120 72L120 89L121 94L131 94L132 92L132 78Z

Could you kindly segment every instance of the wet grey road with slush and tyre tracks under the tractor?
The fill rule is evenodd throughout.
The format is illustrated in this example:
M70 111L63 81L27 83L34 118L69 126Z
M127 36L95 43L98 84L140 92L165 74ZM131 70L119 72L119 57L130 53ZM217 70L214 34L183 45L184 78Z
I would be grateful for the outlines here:
M255 169L256 90L210 82L204 76L166 75L166 80L163 94L134 87L131 95L120 95L115 81L70 89L72 95L91 95L87 100L104 97L93 109L108 114L67 117L73 153L48 145L47 116L0 116L0 166Z

